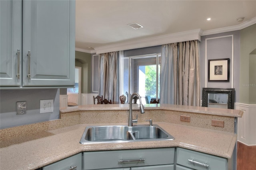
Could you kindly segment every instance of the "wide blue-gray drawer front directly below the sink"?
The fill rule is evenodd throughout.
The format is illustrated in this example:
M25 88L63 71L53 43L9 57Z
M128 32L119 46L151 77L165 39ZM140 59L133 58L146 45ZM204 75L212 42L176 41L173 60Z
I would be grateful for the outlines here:
M118 162L119 160L140 160ZM174 148L84 152L84 170L174 164Z

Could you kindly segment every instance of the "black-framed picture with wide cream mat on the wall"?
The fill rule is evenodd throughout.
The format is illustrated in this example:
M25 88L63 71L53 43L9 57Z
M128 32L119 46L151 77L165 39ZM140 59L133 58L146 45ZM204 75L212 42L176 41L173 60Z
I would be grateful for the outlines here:
M208 81L229 81L230 59L208 59Z

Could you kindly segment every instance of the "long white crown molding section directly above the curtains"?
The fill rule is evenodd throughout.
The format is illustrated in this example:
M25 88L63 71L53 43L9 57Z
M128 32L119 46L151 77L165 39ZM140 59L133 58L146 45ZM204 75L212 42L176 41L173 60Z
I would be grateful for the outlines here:
M143 38L140 40L134 40L130 42L123 42L113 45L106 45L102 47L94 48L97 54L107 53L112 51L121 51L128 49L136 49L143 47L151 47L156 45L168 44L168 43L176 43L176 42L184 42L190 40L201 40L201 36L199 32L201 29L190 30L186 32L178 32L174 34L167 34L162 36L156 36L152 38Z

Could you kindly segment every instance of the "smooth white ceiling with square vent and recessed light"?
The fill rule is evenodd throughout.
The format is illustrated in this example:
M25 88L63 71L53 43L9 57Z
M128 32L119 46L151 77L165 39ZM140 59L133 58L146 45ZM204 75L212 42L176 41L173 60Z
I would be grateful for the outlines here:
M128 26L134 22L143 28ZM191 30L239 30L246 23L256 23L256 0L76 0L76 49L93 53Z

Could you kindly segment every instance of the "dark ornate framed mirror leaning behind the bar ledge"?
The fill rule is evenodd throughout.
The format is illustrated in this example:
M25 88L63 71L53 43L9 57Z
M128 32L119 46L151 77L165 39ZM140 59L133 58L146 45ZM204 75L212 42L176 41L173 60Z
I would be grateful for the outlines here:
M203 88L202 107L234 109L234 88Z

